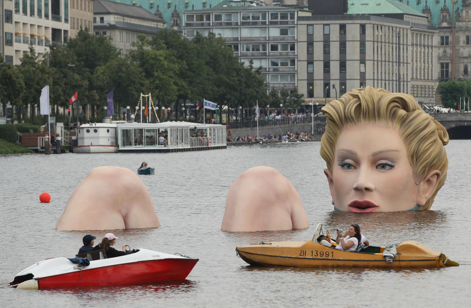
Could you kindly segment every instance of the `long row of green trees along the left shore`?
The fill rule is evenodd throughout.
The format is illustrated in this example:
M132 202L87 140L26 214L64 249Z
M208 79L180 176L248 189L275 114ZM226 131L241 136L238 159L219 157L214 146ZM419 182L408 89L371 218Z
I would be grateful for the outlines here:
M184 103L202 106L203 98L230 108L251 108L257 100L261 108L280 103L295 108L301 103L297 89L280 93L272 89L267 94L262 68L254 69L252 62L244 67L213 33L197 34L188 41L174 30L163 29L150 39L138 35L131 45L133 49L122 57L110 37L80 30L67 44L52 45L41 59L30 46L20 65L0 62L1 107L5 111L10 102L18 106L16 119L30 114L26 120L38 122L33 110L47 84L52 115L59 114L59 108L65 113L76 91L80 105L98 109L106 105L106 95L113 90L115 110L116 105L134 110L140 93L150 92L156 107L172 107L176 115Z

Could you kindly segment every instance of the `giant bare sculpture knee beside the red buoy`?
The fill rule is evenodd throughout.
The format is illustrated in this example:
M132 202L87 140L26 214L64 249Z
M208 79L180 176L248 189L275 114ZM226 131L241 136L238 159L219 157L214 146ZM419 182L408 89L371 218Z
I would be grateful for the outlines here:
M67 201L57 230L113 230L160 227L149 192L130 169L92 169Z

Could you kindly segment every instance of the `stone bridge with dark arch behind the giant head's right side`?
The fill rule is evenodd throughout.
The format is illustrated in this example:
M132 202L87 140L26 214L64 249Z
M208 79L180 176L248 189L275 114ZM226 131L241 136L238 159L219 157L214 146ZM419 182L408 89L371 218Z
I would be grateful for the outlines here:
M450 139L471 139L471 112L430 113L446 128Z

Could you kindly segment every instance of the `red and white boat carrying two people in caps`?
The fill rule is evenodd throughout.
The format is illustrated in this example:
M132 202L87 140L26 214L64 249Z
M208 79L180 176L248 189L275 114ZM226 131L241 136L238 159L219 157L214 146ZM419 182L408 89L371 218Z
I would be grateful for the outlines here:
M82 266L66 257L42 260L19 272L8 285L23 289L150 283L183 280L198 259L140 249Z

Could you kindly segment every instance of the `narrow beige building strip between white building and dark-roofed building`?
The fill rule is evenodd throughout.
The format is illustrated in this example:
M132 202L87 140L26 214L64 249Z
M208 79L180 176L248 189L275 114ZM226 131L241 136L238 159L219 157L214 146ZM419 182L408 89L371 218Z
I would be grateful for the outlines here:
M93 33L93 0L70 0L70 37L80 29Z

